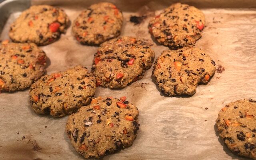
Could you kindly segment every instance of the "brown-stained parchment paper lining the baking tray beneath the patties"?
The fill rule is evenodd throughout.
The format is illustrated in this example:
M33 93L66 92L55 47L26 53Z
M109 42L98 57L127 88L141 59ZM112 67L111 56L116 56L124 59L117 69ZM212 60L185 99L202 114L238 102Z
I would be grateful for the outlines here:
M71 22L94 0L34 0L32 4L62 6ZM169 6L167 0L115 1L123 10L122 36L152 40L147 25L150 16ZM188 1L183 1L188 2ZM216 3L215 3L216 2ZM220 4L228 7L218 8ZM234 4L233 2L236 2ZM240 2L240 4L238 3ZM145 76L124 89L98 87L97 96L126 96L138 107L140 130L134 144L104 157L104 160L246 160L232 154L217 136L215 120L227 103L256 99L256 6L252 0L193 0L206 16L206 28L196 47L206 50L216 62L216 74L207 85L199 85L191 97L162 95L151 79L152 68ZM79 5L78 5L79 4ZM212 4L215 8L209 8ZM249 5L250 4L250 5ZM131 7L134 6L134 7ZM19 16L14 12L2 31L0 40L8 38L10 23ZM129 22L130 16L146 14L139 25ZM2 16L2 15L1 15ZM1 23L1 22L0 22ZM167 47L153 43L156 58ZM47 73L66 70L82 64L91 68L97 46L83 46L72 36L71 27L60 40L42 46L48 58ZM156 59L155 58L155 59ZM0 94L0 159L1 160L82 160L66 135L68 116L38 116L29 106L28 90Z

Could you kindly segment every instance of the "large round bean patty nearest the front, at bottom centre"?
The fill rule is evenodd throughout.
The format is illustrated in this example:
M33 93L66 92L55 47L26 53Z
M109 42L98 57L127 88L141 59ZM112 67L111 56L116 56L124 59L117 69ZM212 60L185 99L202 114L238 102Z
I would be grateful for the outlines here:
M98 97L68 117L66 132L78 154L101 158L132 145L138 115L137 107L124 99Z

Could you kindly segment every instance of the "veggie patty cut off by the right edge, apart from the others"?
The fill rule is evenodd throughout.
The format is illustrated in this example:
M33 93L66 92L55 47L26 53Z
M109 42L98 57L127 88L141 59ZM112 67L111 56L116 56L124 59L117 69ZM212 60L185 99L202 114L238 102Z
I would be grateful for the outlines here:
M255 100L238 100L226 105L218 114L216 127L232 152L256 160Z

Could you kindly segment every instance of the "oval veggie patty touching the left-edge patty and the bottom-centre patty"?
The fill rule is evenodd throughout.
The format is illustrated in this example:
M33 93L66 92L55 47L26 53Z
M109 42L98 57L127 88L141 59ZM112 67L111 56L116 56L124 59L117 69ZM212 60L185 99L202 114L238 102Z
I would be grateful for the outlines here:
M37 114L62 117L90 103L95 94L95 78L83 66L46 75L30 87L30 102Z

